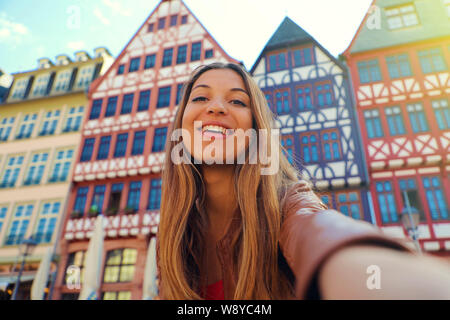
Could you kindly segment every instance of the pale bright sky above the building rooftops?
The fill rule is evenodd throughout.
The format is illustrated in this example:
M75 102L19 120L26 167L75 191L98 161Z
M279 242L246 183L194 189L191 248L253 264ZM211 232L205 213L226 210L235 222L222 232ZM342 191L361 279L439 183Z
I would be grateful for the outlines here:
M285 16L334 56L350 44L372 0L184 0L213 38L250 69ZM0 68L37 68L79 50L114 57L159 0L0 0Z

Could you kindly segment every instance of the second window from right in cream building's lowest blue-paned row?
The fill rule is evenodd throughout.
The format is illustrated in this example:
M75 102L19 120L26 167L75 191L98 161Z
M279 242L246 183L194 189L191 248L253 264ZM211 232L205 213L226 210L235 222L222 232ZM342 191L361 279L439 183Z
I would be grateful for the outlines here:
M34 206L18 205L14 210L12 222L6 235L5 245L21 244L30 224L30 217L33 214Z

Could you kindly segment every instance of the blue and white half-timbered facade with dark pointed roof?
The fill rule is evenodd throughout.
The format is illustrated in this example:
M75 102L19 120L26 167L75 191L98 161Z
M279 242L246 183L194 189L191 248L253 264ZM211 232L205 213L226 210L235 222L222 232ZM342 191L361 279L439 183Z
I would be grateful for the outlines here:
M346 68L286 17L251 73L276 115L289 161L329 207L373 223Z

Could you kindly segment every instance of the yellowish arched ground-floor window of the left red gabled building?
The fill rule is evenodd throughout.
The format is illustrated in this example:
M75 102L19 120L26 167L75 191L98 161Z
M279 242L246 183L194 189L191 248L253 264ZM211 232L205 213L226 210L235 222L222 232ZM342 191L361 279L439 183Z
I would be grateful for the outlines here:
M133 281L136 260L136 249L125 248L108 251L103 283Z

